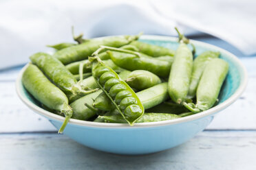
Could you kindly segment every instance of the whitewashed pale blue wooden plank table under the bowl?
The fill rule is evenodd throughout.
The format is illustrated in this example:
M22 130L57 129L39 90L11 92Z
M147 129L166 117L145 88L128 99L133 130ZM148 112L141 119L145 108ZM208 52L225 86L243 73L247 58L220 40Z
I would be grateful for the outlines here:
M47 119L17 97L21 66L0 71L0 169L256 169L256 56L244 57L226 42L195 38L235 53L248 70L248 86L235 103L189 142L145 156L89 149L56 134Z

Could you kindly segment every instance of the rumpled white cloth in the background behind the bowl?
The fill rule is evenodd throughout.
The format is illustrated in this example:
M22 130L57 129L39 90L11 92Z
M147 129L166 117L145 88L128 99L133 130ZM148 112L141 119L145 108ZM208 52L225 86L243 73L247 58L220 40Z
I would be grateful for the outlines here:
M72 42L71 26L86 38L117 34L176 36L205 32L256 53L256 1L94 0L0 1L0 69L28 62L45 45Z

